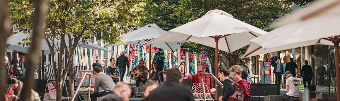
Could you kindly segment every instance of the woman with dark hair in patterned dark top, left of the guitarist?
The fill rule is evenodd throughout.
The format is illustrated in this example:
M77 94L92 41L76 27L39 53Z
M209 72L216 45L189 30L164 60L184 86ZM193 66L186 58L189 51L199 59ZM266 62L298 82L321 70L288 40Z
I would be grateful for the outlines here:
M118 68L115 66L116 59L111 58L110 62L111 62L111 65L107 67L107 74L110 75L113 82L117 83L117 81L119 81L118 80L119 79L119 72L118 72Z

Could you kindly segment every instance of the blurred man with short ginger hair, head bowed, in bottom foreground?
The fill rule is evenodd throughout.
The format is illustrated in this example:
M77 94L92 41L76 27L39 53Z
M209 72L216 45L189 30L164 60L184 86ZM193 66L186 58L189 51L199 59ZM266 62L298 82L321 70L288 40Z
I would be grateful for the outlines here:
M113 91L107 93L98 101L129 101L131 88L128 84L119 82Z

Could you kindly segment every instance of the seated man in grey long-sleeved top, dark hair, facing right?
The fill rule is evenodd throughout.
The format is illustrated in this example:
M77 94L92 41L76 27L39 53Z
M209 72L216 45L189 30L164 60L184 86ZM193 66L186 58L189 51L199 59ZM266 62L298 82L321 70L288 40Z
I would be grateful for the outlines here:
M102 67L97 65L93 68L93 72L96 75L95 85L91 85L94 87L94 93L92 93L91 101L96 101L97 97L102 97L107 94L107 92L111 91L112 86L115 84L112 81L112 78L102 72ZM101 87L104 91L99 92L99 87Z

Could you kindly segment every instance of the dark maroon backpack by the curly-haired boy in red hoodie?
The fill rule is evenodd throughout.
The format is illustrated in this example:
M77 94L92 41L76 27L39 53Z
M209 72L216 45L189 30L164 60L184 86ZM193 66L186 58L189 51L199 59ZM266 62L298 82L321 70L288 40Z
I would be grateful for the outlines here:
M231 80L231 79L229 79ZM234 80L232 81L232 85L234 86L235 92L233 95L229 96L229 98L227 99L227 101L243 101L243 87L238 84L237 82L235 82Z

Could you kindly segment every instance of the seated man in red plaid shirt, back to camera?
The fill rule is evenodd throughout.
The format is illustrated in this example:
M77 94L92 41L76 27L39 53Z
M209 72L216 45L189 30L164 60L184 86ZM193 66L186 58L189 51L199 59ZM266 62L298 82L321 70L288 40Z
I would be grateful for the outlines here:
M192 88L192 84L193 83L201 83L201 75L205 74L207 72L204 72L204 66L203 65L198 65L197 66L197 73L194 74L191 78L191 88ZM203 77L203 82L205 84L207 84L207 86L209 87L209 93L211 95L211 88L212 88L212 77L211 76L204 76Z

